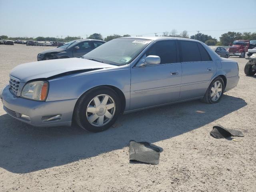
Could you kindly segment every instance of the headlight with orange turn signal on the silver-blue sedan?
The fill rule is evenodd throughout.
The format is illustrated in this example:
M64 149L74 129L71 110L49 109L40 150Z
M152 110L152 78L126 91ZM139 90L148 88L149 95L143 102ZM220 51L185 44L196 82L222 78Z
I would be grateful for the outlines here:
M29 82L22 89L21 96L32 100L45 101L48 88L49 84L47 81Z

